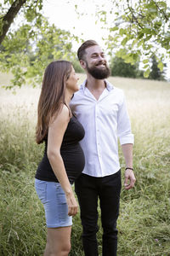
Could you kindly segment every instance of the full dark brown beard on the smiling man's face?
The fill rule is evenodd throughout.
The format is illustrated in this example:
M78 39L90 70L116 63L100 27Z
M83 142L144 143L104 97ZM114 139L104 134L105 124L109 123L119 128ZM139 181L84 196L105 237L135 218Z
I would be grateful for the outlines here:
M88 62L86 62L86 65L87 65L88 73L90 73L94 77L94 79L107 79L110 76L111 71L110 71L110 68L106 64L105 64L105 68L99 68L96 66L88 67Z

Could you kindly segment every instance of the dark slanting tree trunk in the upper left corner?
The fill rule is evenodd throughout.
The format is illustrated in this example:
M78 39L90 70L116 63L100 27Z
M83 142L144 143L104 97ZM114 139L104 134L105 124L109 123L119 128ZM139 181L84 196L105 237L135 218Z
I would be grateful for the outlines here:
M15 0L11 7L8 9L8 13L4 15L2 32L0 34L0 44L2 44L9 27L13 23L14 17L18 14L24 3L26 3L26 0Z

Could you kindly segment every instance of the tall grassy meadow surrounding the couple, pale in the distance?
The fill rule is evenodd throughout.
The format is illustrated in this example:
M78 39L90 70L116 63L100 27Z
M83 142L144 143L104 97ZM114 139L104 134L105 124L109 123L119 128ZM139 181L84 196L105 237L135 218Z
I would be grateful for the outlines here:
M0 85L10 75L0 74ZM84 75L80 74L81 83ZM170 256L170 84L110 78L122 88L135 137L135 188L122 188L118 256ZM34 176L43 145L35 143L40 88L0 88L0 255L40 256L46 241ZM122 183L124 160L120 149ZM99 255L102 230L99 222ZM73 218L71 256L83 256L79 214Z

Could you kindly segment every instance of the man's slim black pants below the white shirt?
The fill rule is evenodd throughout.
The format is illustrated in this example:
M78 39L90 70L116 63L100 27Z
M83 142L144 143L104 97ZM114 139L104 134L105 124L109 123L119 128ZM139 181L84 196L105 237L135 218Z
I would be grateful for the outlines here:
M103 227L103 256L116 256L116 220L119 214L121 170L106 177L83 174L77 178L75 190L81 208L82 245L85 256L98 256L96 233L98 199Z

